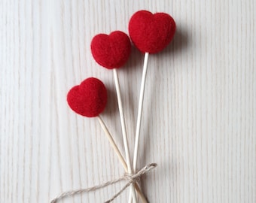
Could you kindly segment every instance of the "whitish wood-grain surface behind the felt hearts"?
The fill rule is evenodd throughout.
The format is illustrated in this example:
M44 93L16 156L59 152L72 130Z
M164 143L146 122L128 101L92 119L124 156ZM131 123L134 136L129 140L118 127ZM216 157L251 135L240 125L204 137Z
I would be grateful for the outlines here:
M94 35L127 32L138 10L171 14L172 44L151 55L138 168L150 202L256 202L256 2L0 1L0 202L50 202L123 174L96 119L66 93L86 77L108 87L103 119L123 152L112 72ZM143 56L119 71L133 150ZM132 155L132 152L131 152ZM103 202L122 184L62 202ZM114 202L127 202L128 190Z

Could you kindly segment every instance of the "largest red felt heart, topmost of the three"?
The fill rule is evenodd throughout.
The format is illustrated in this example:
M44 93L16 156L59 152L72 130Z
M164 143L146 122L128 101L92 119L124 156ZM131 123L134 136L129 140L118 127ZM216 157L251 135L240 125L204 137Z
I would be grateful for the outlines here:
M163 50L175 33L175 21L169 14L137 11L129 23L130 38L143 53Z

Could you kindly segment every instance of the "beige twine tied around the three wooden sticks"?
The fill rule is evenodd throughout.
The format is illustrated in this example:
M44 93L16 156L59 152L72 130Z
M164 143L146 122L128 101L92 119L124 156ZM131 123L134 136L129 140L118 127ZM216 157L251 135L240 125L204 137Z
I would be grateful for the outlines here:
M72 190L72 191L68 191L68 192L63 192L62 194L60 194L56 198L54 198L52 201L50 201L50 203L56 203L57 201L61 200L62 198L66 198L66 197L73 196L73 195L78 195L78 194L81 194L84 192L96 191L97 189L102 189L103 187L113 185L114 183L118 183L122 180L126 180L127 181L126 185L123 186L123 188L120 189L119 192L117 192L110 199L108 199L108 201L105 201L105 203L110 203L115 198L117 198L117 196L119 196L128 186L130 186L133 183L138 183L143 174L147 173L148 171L151 171L152 169L154 169L156 167L157 167L156 163L151 163L151 164L145 165L145 167L143 167L141 170L139 170L136 174L125 173L122 177L119 177L115 180L110 180L110 181L102 183L98 186L89 187L87 189L76 189L76 190Z

